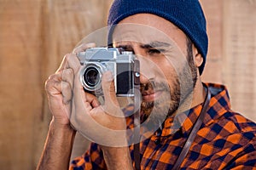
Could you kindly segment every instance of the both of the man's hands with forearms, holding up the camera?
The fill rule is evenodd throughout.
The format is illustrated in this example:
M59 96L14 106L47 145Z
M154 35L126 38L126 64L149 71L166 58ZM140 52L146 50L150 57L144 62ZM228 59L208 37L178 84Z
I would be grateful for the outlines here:
M116 99L112 73L107 71L102 76L104 105L96 96L85 93L80 82L82 65L76 54L94 46L82 44L73 54L67 54L46 82L53 120L39 168L67 168L74 137L72 124L79 133L102 145L108 169L132 169L125 116Z

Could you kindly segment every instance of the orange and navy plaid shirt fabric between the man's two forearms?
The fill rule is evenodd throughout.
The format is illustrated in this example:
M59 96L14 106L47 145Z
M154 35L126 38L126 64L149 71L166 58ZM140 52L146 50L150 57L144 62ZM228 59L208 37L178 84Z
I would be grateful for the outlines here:
M90 150L83 156L75 158L69 167L69 170L88 170L88 169L107 169L103 153L98 144L91 143Z

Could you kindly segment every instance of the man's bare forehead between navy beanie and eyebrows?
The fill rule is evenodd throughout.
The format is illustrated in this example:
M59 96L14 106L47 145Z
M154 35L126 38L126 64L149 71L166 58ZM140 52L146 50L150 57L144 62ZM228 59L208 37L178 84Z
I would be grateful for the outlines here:
M152 41L177 43L179 48L186 44L186 35L173 25L154 14L134 14L121 20L113 31L113 42Z

